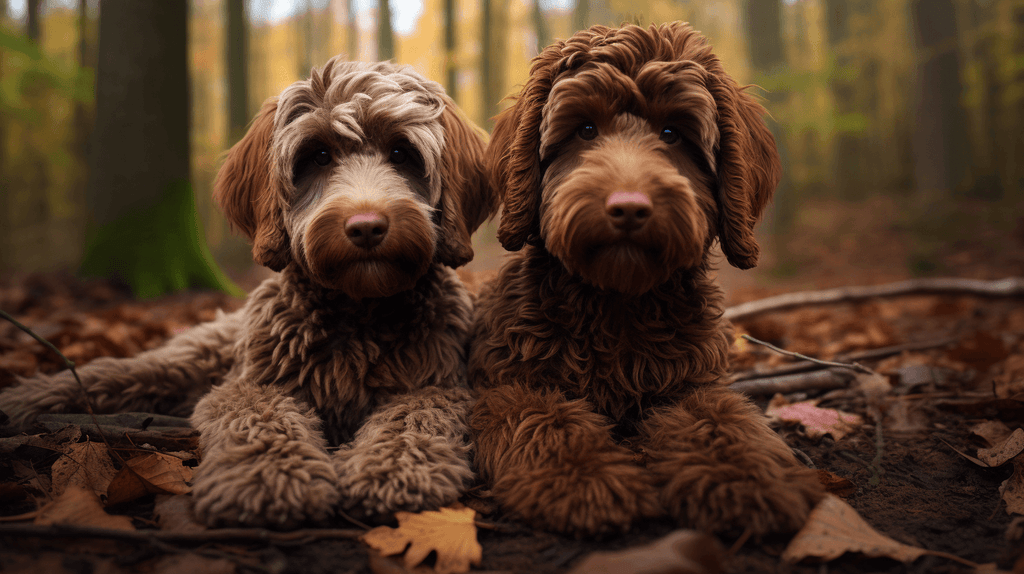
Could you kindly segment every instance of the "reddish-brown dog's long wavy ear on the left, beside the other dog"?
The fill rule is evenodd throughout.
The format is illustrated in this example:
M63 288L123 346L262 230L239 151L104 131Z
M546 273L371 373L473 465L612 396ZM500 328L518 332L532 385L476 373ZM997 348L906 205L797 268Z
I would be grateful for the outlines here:
M490 183L504 206L498 240L508 251L519 251L541 233L541 119L562 58L560 46L549 46L534 60L515 104L496 119L487 146Z

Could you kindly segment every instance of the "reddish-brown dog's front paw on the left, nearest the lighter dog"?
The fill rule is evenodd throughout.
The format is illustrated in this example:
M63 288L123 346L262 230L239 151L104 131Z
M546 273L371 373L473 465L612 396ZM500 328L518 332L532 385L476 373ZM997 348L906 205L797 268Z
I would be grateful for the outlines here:
M495 481L492 494L529 524L565 534L625 531L638 519L664 514L644 469L629 460L600 461L599 455L580 458L510 470Z

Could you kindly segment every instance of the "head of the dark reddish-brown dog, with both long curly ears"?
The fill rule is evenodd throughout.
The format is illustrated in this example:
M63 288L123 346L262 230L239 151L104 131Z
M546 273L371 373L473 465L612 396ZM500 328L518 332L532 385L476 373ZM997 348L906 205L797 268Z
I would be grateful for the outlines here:
M764 109L688 25L596 26L549 46L495 127L502 245L544 247L629 294L699 264L717 236L757 264L754 226L778 183Z

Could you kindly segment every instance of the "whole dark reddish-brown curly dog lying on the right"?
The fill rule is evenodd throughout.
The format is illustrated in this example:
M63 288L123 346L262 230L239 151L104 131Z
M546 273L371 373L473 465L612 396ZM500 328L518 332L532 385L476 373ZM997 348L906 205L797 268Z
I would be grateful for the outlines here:
M534 61L488 150L518 253L480 295L469 359L476 463L506 510L578 534L665 513L761 534L823 495L720 384L709 252L757 263L779 176L763 112L682 23L594 27Z

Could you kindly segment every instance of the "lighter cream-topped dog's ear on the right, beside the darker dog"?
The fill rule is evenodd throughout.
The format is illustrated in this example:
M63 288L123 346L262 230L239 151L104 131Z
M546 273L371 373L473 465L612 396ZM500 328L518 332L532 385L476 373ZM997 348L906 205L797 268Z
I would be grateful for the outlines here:
M484 169L483 135L473 127L449 97L444 97L441 126L440 237L437 260L450 267L473 259L473 231L498 209L498 198Z

